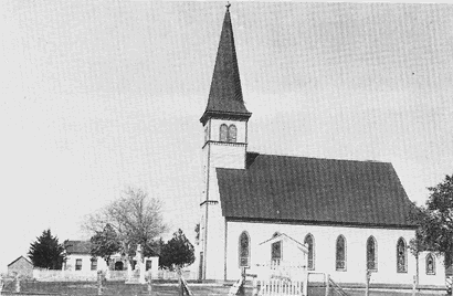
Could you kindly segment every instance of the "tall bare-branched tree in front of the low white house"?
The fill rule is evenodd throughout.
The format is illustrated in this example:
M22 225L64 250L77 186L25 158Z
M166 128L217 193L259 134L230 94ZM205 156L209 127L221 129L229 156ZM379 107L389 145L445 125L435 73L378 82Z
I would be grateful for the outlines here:
M112 252L109 247L114 247L117 242L119 252L125 256L127 263L131 263L138 244L144 250L144 256L150 255L155 245L154 241L167 230L161 214L161 202L148 197L145 191L134 188L128 188L119 199L89 214L83 228L94 233L95 241L102 241L99 233L104 232L107 224L117 239L108 236L112 240L106 244L98 244L99 249L95 253L107 256ZM113 235L112 231L109 233Z

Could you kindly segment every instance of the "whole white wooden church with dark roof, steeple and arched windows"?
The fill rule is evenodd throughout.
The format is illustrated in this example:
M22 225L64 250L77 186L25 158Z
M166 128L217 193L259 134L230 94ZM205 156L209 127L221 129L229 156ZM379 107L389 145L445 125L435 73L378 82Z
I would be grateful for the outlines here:
M247 151L247 123L229 7L200 121L202 193L199 276L238 279L295 262L338 283L445 285L443 257L408 249L412 204L388 162Z

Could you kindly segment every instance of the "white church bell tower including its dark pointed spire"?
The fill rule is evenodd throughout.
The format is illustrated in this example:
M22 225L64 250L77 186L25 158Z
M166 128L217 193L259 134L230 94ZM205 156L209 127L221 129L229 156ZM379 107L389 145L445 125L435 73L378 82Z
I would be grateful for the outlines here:
M200 278L223 277L224 225L217 168L245 169L247 121L234 46L230 4L227 6L212 74L208 105L200 123L204 129L203 192L201 195ZM223 235L223 236L222 236ZM217 265L214 265L214 264Z

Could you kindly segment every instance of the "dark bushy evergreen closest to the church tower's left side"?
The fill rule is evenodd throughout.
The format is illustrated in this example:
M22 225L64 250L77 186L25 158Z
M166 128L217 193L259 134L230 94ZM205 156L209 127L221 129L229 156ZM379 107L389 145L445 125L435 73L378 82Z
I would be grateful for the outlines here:
M173 237L162 245L159 264L161 267L173 269L190 265L194 260L193 245L179 229L173 233Z

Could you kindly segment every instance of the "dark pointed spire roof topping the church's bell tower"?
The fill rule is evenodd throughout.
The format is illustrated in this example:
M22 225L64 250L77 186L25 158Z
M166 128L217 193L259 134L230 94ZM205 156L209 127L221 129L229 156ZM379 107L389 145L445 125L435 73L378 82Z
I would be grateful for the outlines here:
M200 121L204 124L211 117L247 120L250 116L252 114L245 108L242 98L241 78L239 76L233 28L230 18L230 4L228 4L208 105Z

